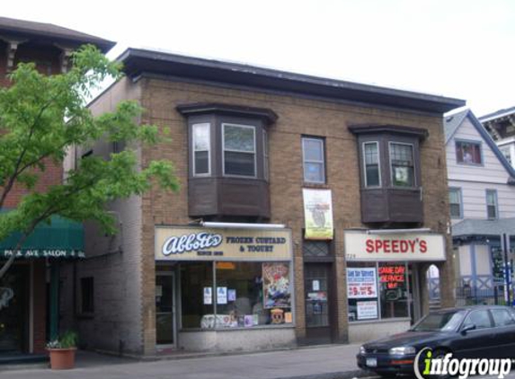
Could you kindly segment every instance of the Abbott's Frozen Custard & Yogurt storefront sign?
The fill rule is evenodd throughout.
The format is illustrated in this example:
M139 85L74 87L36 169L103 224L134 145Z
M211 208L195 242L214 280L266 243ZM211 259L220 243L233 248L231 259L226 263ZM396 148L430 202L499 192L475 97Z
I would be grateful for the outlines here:
M282 230L155 227L155 260L290 260Z

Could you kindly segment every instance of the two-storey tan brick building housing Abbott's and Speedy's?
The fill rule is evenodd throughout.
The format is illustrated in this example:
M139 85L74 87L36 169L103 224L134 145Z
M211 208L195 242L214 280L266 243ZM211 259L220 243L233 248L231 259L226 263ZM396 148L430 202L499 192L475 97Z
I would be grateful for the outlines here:
M93 296L64 315L84 347L369 339L427 310L431 264L453 304L442 113L464 101L140 49L119 59L127 76L90 107L139 101L171 140L129 147L142 165L173 161L182 187L113 203L115 237L86 226L61 299Z

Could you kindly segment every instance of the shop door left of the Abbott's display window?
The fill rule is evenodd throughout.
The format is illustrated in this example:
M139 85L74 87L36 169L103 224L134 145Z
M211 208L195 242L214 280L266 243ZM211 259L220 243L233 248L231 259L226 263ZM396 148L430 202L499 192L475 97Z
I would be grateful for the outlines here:
M175 346L175 276L173 272L155 275L155 341Z

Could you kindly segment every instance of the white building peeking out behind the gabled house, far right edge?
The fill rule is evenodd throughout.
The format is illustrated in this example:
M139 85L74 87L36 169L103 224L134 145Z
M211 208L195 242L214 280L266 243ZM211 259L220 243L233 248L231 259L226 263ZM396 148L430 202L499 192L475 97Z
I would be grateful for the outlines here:
M502 155L515 167L515 107L497 110L479 118Z

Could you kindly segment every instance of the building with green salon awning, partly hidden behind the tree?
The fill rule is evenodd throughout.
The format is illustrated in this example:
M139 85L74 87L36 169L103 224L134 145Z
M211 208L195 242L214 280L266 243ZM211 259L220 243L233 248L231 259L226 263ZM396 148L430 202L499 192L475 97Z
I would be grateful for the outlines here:
M111 41L49 23L0 17L0 86L10 85L7 75L20 62L34 62L45 75L66 72L71 53L84 43L104 52L113 46ZM62 181L63 168L46 164L35 190ZM15 185L0 212L16 207L27 191ZM58 266L64 255L70 258L84 250L83 236L82 225L56 216L51 225L38 226L21 251L13 251L19 236L0 241L0 267L11 254L18 256L0 279L0 365L44 358L46 341L58 332ZM60 258L55 258L57 251Z

